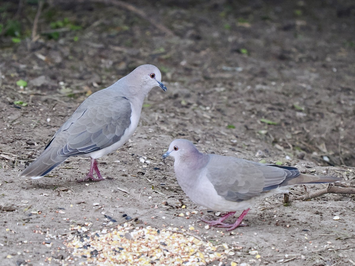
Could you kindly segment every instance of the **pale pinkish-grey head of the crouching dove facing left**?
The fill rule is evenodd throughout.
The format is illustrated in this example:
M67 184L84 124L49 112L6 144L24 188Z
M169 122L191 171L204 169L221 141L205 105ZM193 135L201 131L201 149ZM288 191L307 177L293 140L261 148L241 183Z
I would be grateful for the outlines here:
M185 160L191 158L191 156L196 157L200 154L201 153L190 140L175 139L170 143L169 150L163 155L163 159L171 155L175 160Z

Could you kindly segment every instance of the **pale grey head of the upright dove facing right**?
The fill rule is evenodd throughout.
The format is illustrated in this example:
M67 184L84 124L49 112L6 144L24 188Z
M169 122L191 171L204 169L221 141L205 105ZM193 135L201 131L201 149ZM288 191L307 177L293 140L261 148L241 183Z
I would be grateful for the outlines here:
M153 65L142 65L127 75L131 84L141 84L140 90L144 95L154 87L160 87L166 92L166 87L162 83L162 74L159 69Z

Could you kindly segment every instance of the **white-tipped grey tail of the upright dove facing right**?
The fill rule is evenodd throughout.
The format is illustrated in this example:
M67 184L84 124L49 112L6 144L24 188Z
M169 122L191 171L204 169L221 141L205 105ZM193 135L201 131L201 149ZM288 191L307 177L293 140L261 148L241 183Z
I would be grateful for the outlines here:
M48 147L44 152L38 157L37 160L32 162L25 170L23 170L18 176L19 177L31 177L32 179L37 179L45 176L53 168L64 162L68 156L61 156L57 154L58 149L56 147Z

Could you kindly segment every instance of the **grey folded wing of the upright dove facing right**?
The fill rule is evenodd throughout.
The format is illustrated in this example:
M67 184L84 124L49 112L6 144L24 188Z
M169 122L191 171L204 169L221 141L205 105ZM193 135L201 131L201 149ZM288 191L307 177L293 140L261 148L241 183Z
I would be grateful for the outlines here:
M104 94L88 98L55 133L47 145L58 147L58 155L91 153L118 142L131 124L127 98ZM46 149L47 149L46 147Z

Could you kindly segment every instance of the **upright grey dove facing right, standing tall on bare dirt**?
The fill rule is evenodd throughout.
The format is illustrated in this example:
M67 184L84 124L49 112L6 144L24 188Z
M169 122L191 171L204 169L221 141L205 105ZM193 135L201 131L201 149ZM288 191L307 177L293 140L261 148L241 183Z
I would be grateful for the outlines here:
M43 177L68 157L80 155L91 157L90 171L80 181L103 180L95 159L117 150L132 136L144 97L157 86L166 91L161 79L157 67L142 65L110 87L90 95L58 129L38 159L19 176Z

